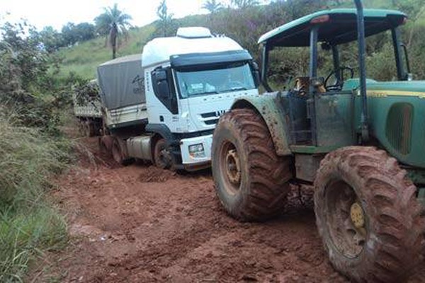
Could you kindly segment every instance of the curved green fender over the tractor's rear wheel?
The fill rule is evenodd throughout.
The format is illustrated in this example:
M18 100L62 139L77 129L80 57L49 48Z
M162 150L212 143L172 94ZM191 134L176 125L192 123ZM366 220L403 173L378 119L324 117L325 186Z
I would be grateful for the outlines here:
M234 100L232 109L253 109L259 113L268 127L278 156L288 156L289 148L288 125L285 122L285 112L280 103L280 92L263 93L261 96L250 96Z

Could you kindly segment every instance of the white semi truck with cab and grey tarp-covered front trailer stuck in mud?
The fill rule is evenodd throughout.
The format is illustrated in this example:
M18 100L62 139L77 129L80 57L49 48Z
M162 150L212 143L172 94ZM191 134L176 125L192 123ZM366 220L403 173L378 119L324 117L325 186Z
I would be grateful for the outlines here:
M258 96L259 70L249 52L207 28L156 38L142 56L98 67L105 133L101 148L118 163L132 158L160 168L210 166L212 132L240 96Z

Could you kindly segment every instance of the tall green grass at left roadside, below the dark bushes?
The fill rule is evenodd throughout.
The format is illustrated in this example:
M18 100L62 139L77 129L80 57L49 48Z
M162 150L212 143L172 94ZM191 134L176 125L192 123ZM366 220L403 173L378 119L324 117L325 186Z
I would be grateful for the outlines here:
M0 282L23 281L32 260L67 243L66 221L47 192L68 152L69 141L0 116Z

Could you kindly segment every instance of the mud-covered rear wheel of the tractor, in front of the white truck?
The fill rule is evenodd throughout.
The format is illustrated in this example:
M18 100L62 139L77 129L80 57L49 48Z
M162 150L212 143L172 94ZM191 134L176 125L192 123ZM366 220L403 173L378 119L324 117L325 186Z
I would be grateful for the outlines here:
M220 118L212 140L212 175L220 202L242 221L281 212L293 178L291 159L276 155L266 123L250 109Z

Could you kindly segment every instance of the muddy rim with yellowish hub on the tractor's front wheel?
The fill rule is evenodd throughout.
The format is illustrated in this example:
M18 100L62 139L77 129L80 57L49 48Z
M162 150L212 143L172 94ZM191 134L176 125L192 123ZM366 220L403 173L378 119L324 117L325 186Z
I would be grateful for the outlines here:
M357 258L368 236L367 216L353 187L342 180L326 187L326 225L333 246L346 258Z

